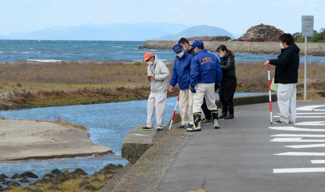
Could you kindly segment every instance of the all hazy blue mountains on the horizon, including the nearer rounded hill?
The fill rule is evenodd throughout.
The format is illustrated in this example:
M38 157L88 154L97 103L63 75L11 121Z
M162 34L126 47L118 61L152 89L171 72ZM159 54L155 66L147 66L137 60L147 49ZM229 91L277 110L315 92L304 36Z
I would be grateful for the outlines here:
M231 39L234 39L234 36L231 33L218 27L207 25L189 27L184 24L153 22L137 24L109 23L105 25L86 23L69 27L54 26L33 32L11 33L5 36L0 36L0 39L143 41L178 40L181 37L197 36L229 36Z

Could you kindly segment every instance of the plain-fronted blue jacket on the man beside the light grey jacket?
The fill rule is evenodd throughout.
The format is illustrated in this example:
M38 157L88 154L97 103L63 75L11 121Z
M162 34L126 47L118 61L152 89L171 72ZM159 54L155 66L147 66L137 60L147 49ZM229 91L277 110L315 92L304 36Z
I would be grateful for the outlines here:
M181 90L189 89L189 69L193 55L184 52L182 58L176 56L173 65L172 78L169 85L175 87L178 83Z

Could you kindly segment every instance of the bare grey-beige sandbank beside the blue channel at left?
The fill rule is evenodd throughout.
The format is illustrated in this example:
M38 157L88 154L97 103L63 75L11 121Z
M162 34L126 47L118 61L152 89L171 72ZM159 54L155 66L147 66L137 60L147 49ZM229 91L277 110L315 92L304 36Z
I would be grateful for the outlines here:
M0 120L0 146L0 161L112 152L109 147L92 143L84 130L28 120Z

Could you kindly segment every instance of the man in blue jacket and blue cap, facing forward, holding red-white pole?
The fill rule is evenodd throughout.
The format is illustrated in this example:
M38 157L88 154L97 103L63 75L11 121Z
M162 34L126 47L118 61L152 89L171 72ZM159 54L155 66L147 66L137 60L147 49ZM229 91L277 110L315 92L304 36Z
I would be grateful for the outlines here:
M189 90L189 69L193 56L188 54L181 44L173 47L176 58L174 60L172 78L169 80L169 92L178 83L179 91L179 113L182 117L182 123L178 128L193 127L193 93Z

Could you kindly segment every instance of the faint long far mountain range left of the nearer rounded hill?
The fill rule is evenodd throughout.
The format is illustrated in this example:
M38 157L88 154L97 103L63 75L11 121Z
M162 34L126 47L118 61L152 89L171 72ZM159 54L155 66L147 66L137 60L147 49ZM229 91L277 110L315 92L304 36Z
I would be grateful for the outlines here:
M91 23L69 26L50 27L27 33L11 33L9 39L28 40L139 40L157 38L161 35L181 31L189 26L171 23L109 23L94 25Z

